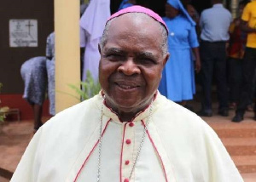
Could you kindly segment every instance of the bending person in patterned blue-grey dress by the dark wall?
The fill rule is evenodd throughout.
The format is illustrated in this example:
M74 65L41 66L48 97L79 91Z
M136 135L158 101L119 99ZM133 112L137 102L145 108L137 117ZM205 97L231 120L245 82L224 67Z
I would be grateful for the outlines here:
M20 74L25 88L23 98L32 105L34 133L43 125L42 111L47 88L46 58L34 57L21 65Z

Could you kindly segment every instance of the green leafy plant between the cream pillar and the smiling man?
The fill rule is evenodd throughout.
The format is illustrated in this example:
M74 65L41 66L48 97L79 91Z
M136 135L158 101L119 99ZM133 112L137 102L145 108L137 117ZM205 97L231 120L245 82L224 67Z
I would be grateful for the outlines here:
M100 82L94 81L90 71L86 72L86 80L84 82L80 82L79 88L73 84L68 84L68 87L72 88L77 94L79 94L80 97L69 94L78 100L88 100L94 95L99 94L100 90L102 89Z

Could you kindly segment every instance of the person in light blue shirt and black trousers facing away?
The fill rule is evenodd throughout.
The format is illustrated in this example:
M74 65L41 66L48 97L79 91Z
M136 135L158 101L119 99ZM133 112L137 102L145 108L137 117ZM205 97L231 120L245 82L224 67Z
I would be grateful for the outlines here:
M222 0L212 0L211 9L201 13L201 111L202 117L212 117L212 77L216 78L218 114L229 116L229 99L226 76L226 43L230 39L230 12Z

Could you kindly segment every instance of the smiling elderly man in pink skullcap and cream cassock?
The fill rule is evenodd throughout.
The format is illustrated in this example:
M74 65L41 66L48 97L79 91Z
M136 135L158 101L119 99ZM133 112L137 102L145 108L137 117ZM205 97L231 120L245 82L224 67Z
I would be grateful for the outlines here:
M242 181L206 122L158 93L166 39L149 9L113 14L99 46L102 92L44 124L12 181Z

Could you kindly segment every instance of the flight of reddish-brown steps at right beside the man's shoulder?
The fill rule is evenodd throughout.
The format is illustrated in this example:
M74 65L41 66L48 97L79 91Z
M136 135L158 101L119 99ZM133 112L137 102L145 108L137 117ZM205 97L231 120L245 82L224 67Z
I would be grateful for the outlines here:
M246 182L256 181L256 122L252 119L230 122L231 117L203 119L218 134L243 179Z

